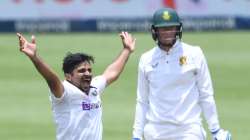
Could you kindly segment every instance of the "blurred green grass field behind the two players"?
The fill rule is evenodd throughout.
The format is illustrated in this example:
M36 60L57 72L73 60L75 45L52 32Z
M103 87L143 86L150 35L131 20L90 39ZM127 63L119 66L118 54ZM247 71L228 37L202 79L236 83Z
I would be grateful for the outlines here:
M30 34L26 34L29 37ZM116 33L37 34L38 52L63 79L65 53L95 56L94 74L101 74L122 45ZM131 139L137 63L153 47L150 34L136 33L136 52L120 79L103 96L104 140ZM202 47L210 67L221 126L234 140L250 139L250 33L184 33L183 40ZM0 34L0 139L53 140L55 127L45 81L19 52L15 34ZM247 111L248 110L248 111ZM208 136L210 139L210 136Z

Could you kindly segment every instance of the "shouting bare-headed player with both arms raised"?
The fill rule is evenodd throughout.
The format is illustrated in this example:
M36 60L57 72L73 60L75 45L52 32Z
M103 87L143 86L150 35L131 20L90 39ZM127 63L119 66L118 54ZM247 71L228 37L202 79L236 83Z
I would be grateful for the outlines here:
M21 34L20 51L29 57L37 71L46 80L51 91L50 98L57 140L102 140L101 98L105 87L113 83L135 49L135 39L121 32L123 48L119 56L103 74L92 79L92 56L84 53L69 53L63 60L65 80L41 59L34 36L28 42Z

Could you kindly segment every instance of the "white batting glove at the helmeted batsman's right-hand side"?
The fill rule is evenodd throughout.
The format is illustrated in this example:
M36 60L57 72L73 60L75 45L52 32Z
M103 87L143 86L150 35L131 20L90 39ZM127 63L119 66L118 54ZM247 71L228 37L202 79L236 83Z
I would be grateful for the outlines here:
M219 129L212 132L213 140L232 140L231 133L227 130Z

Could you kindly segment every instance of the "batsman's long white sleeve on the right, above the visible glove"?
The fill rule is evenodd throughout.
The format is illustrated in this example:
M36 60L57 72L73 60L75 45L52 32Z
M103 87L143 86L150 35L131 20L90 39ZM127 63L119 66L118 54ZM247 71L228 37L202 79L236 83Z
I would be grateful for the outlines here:
M209 130L212 132L220 127L212 80L206 58L200 48L198 48L198 57L197 86L199 90L199 103L208 123Z

